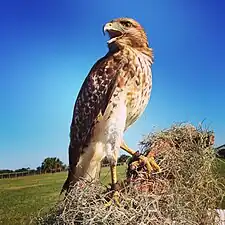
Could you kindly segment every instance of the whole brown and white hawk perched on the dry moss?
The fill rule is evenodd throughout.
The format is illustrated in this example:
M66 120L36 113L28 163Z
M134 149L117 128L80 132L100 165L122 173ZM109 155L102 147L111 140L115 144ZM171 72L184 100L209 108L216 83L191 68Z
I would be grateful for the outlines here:
M99 179L104 157L116 190L119 149L135 154L123 134L142 115L150 98L153 51L142 26L131 18L117 18L106 23L103 32L109 35L108 53L91 68L78 94L70 126L69 172L62 191L68 192L80 178ZM146 164L149 170L155 165Z

